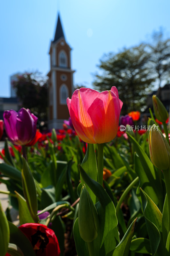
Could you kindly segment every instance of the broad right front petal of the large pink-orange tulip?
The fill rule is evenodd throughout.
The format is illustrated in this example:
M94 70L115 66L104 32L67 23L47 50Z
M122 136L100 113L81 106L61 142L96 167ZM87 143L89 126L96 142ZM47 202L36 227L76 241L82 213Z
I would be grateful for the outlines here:
M88 109L95 127L94 140L104 143L113 140L117 134L121 100L112 91L101 92Z

